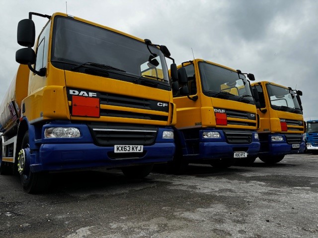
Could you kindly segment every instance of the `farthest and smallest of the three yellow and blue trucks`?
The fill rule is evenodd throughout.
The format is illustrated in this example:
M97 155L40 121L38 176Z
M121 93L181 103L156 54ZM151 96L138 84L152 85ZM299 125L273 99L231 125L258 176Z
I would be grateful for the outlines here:
M303 153L306 123L300 99L302 92L267 81L251 86L257 90L259 98L260 127L257 132L261 146L258 158L274 164L287 154Z

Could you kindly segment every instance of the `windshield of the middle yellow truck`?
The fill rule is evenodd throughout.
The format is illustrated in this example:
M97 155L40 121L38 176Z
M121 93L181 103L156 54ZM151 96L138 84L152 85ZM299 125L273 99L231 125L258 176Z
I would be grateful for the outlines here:
M199 62L199 70L205 95L254 104L243 74L207 62Z

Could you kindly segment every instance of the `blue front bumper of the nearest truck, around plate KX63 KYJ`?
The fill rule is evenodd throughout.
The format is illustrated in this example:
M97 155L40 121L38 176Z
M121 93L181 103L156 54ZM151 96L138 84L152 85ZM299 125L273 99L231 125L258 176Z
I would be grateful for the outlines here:
M174 139L162 138L163 131L173 131L169 127L158 128L157 137L153 144L141 144L143 145L142 153L115 153L113 145L96 145L85 124L46 124L41 128L42 135L45 128L52 126L77 127L81 132L81 136L79 138L42 137L42 139L35 140L34 146L30 145L30 170L32 172L85 170L95 167L120 168L165 163L172 161L175 152ZM30 132L32 133L32 131ZM30 139L32 140L31 136ZM129 143L125 145L129 145Z

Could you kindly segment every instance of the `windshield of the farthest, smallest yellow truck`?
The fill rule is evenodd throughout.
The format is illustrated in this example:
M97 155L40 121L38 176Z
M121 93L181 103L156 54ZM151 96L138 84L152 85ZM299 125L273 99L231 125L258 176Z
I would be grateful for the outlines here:
M302 113L296 94L288 88L266 84L271 107L276 110Z

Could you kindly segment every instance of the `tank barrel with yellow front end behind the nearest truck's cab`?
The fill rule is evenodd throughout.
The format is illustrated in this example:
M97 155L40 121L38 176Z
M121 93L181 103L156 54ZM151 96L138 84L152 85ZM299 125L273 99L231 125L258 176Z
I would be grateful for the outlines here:
M20 117L21 101L28 95L30 70L20 64L0 104L0 132L9 129Z

